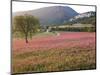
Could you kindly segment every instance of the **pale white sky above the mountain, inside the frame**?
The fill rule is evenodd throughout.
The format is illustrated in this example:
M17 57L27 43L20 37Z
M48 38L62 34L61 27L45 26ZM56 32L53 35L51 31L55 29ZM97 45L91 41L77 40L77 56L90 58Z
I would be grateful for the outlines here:
M49 6L69 6L72 9L74 9L78 13L84 13L88 11L95 11L94 6L80 6L80 5L63 5L63 4L44 4L44 3L33 3L33 2L12 2L12 12L18 12L18 11L27 11L27 10L34 10L39 9L43 7L49 7Z

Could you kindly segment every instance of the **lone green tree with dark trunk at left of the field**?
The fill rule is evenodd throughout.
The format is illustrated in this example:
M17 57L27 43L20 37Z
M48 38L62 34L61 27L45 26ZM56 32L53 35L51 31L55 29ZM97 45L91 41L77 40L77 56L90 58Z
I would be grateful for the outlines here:
M14 17L14 29L22 33L28 43L28 37L32 37L39 29L39 20L32 15L21 15Z

